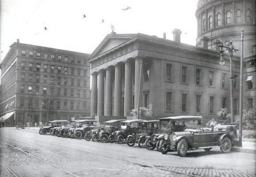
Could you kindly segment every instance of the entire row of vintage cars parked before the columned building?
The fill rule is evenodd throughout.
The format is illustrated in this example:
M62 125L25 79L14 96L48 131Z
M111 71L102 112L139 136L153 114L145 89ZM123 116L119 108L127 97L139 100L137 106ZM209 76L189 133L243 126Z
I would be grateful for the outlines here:
M41 127L39 134L65 138L84 138L95 142L126 142L128 146L138 144L141 148L154 150L162 154L177 151L186 156L188 149L209 151L219 146L228 153L238 141L236 125L215 125L202 127L201 116L173 116L158 120L109 120L97 124L95 120L50 121L50 127Z

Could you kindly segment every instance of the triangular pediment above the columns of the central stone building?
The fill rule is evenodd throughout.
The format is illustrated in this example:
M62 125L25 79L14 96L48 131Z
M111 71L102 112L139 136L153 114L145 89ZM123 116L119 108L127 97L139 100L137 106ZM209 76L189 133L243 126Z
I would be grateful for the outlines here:
M90 60L93 60L93 58L106 53L107 51L122 45L126 43L127 41L134 38L136 35L134 34L125 34L125 35L119 35L119 34L110 34L107 35L100 43L100 45L93 51ZM89 61L90 61L89 60Z

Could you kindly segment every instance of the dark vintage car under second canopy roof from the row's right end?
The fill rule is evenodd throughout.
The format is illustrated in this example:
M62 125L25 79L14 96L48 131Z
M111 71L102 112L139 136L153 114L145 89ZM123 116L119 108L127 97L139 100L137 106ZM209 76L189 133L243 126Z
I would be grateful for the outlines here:
M151 134L159 127L158 120L142 121L139 122L140 130L137 134L131 134L127 136L126 144L128 146L134 146L138 142L139 147L145 148L146 146L146 136L151 136Z

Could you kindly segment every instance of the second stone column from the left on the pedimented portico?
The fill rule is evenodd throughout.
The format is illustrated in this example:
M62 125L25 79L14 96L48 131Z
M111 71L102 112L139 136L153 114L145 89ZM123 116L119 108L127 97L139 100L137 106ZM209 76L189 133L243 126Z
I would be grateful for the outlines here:
M98 75L97 115L103 115L103 114L104 114L104 72L103 70L100 70Z

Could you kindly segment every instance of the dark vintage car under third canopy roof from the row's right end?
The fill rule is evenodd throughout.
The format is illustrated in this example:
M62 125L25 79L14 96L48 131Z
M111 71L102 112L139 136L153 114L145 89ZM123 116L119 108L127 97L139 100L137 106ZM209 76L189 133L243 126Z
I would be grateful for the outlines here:
M110 142L117 141L118 144L123 144L123 142L127 139L127 136L131 134L137 134L140 130L140 124L139 122L142 122L145 120L141 119L135 119L135 120L127 120L122 121L122 125L119 128L118 131L113 132L108 137Z

